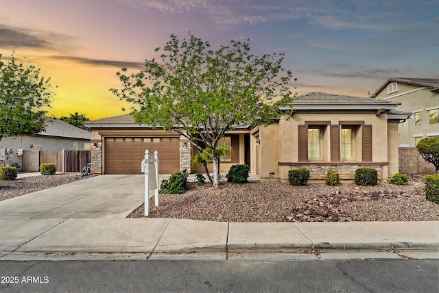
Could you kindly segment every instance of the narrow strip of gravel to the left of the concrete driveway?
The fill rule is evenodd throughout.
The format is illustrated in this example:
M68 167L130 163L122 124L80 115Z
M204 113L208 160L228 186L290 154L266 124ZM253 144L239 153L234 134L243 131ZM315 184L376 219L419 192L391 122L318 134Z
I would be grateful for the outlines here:
M0 201L12 199L15 196L36 192L46 188L60 186L72 181L84 180L81 173L61 173L55 175L40 175L17 178L16 180L0 181Z

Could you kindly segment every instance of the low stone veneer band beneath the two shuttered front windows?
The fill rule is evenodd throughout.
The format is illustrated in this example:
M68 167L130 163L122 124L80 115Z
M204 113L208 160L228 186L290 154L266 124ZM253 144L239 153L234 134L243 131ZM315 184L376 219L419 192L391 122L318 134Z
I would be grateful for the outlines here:
M377 170L378 179L383 179L383 172L381 165L294 165L292 170L307 169L309 170L310 180L324 180L328 170L337 170L340 180L355 179L355 170L358 168L372 168Z

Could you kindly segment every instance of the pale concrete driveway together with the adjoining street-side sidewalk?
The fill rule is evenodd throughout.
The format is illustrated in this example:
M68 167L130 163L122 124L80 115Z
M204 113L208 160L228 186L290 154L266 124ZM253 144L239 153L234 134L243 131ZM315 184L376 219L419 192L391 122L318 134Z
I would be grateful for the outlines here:
M169 255L379 251L439 258L439 222L209 222L126 218L143 203L142 175L103 175L0 201L0 260L47 255ZM254 253L257 254L254 254ZM412 255L412 256L410 256ZM284 255L285 256L285 255Z

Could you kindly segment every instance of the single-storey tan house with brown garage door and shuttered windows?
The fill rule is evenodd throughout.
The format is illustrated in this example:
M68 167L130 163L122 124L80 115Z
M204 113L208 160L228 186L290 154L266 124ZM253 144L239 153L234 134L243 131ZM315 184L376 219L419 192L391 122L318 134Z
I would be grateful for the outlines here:
M221 144L232 155L222 160L221 172L232 164L249 164L261 179L274 172L281 181L294 168L311 170L311 179L324 179L329 169L339 170L341 179L353 179L355 170L364 167L376 168L379 179L398 172L398 124L410 116L395 111L399 103L322 92L293 103L273 125L228 131ZM141 174L145 149L158 151L161 174L202 172L191 166L197 149L178 133L139 125L130 115L84 125L92 129L93 174Z

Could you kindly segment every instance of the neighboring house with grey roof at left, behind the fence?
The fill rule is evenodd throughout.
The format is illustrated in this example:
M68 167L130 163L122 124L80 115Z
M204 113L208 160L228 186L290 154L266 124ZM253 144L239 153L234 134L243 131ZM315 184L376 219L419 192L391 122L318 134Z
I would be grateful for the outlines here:
M91 131L80 129L56 118L47 117L46 121L45 131L35 136L1 138L0 166L12 166L13 164L23 166L23 151L91 149Z

